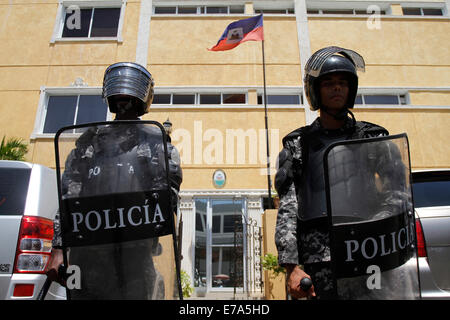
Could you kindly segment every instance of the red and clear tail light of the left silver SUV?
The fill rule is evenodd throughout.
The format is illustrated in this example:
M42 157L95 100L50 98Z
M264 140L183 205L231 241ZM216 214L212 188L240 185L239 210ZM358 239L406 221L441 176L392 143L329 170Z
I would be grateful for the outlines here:
M14 272L45 273L52 251L53 221L23 216Z

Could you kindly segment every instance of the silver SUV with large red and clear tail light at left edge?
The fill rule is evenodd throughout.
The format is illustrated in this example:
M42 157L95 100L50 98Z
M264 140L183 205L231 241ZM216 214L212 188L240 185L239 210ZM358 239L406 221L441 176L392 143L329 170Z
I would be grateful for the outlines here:
M38 296L47 278L57 210L55 170L0 160L0 299ZM52 284L47 298L64 298L61 289Z

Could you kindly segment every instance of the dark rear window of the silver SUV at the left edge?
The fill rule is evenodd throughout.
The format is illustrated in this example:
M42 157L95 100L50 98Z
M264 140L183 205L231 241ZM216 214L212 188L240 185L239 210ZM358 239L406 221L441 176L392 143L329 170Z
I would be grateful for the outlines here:
M0 168L0 216L22 215L31 169Z

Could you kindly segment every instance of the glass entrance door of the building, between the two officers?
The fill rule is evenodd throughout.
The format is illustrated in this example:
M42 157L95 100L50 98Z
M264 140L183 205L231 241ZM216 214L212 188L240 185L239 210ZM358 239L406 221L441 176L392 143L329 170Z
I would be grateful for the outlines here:
M242 198L196 199L196 286L242 288L245 214Z

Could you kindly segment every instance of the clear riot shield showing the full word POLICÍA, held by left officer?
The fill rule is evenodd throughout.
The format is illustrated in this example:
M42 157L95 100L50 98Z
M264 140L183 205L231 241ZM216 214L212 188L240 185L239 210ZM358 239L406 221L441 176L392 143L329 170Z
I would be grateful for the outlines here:
M70 299L181 299L166 134L154 121L55 136Z

